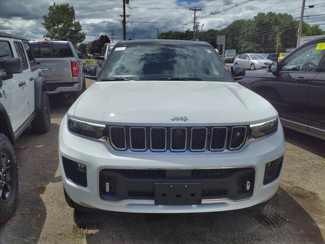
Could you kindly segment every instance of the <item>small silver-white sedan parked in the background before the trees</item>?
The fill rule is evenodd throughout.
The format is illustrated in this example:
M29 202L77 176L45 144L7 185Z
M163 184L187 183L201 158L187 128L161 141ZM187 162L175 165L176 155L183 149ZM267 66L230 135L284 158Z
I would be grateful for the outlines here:
M250 70L268 68L271 63L272 60L267 59L262 54L256 53L244 53L236 57L234 60L234 65L240 65L249 68Z

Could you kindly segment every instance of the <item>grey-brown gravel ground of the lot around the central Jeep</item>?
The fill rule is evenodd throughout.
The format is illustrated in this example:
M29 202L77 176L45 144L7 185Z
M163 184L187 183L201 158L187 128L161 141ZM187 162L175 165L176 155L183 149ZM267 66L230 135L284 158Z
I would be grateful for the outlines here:
M50 103L50 132L27 130L15 145L18 207L0 243L325 243L324 141L285 130L283 180L262 211L80 214L64 200L58 167L59 124L71 101Z

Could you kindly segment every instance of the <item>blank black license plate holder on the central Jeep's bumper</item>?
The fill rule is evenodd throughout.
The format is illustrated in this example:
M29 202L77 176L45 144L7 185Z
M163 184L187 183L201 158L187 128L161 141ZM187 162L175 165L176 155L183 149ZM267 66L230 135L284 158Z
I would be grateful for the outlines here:
M194 205L202 202L201 182L156 182L156 205Z

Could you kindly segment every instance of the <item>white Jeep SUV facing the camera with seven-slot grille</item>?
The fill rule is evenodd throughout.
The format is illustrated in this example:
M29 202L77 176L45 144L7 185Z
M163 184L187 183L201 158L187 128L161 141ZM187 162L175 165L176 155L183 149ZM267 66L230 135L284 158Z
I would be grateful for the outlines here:
M270 199L283 166L282 126L269 102L234 81L244 68L232 74L205 42L117 43L61 122L68 204L209 212Z

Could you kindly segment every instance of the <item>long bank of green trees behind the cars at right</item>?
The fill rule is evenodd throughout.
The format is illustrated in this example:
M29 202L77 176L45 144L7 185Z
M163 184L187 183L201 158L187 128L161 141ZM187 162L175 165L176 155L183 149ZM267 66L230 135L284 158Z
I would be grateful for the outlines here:
M273 12L259 13L253 20L236 20L223 29L209 29L202 33L202 41L209 42L217 47L217 36L225 36L225 49L236 49L237 53L263 52L273 53L294 48L297 43L299 21L289 14L276 14ZM186 33L161 33L163 39L187 39ZM303 23L302 36L324 35L325 31L319 25ZM196 35L201 39L201 33ZM220 47L221 48L221 47Z

